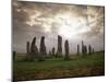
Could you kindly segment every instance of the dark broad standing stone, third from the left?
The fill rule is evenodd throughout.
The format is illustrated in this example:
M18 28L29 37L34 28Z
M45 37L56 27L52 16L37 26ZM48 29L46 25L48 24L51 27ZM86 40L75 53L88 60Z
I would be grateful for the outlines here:
M39 51L40 51L41 59L44 60L45 55L47 55L46 45L45 45L45 36L41 36Z

